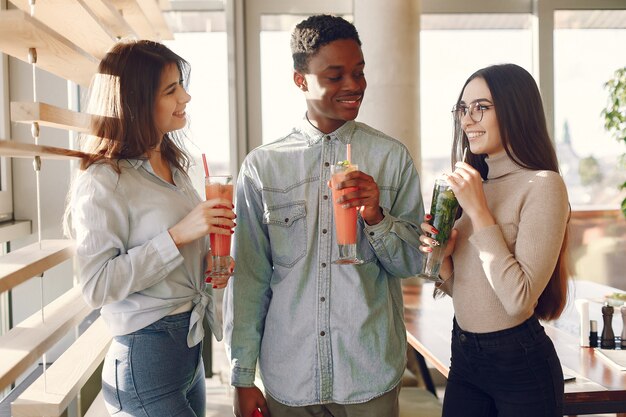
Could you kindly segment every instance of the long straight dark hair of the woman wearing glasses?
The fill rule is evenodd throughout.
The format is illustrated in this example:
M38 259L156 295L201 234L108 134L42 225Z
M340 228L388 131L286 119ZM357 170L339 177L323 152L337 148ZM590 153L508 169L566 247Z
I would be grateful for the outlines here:
M459 94L461 101L467 84L482 78L491 92L500 127L502 146L517 165L531 170L547 170L559 173L559 163L554 144L548 134L541 94L532 75L515 64L492 65L472 74ZM461 160L463 150L469 149L467 136L455 121L452 146L452 167ZM466 162L487 179L489 168L486 155L468 152ZM569 220L568 220L569 221ZM558 318L567 302L567 280L569 277L568 228L561 244L561 251L550 281L543 290L535 315L544 320Z

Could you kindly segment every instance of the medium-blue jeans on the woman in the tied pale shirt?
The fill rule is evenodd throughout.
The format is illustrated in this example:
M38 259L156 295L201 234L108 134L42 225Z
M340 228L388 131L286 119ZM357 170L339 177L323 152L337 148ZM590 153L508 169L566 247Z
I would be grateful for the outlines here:
M205 415L202 343L187 346L190 314L166 316L113 339L102 370L102 393L111 415Z

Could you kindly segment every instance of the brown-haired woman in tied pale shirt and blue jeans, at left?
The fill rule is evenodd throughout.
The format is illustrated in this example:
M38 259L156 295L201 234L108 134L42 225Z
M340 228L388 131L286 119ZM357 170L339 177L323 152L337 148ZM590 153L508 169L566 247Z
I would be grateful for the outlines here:
M112 335L102 392L116 416L205 415L203 319L221 339L209 233L230 201L203 201L180 141L189 65L151 41L116 44L92 82L90 135L68 204L83 296ZM70 225L71 223L71 225ZM232 266L232 264L231 264Z

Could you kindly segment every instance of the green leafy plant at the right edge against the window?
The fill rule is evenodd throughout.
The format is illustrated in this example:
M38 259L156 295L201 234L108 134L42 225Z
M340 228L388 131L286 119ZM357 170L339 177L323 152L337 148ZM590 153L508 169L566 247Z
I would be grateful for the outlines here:
M618 142L626 145L626 67L615 71L613 78L604 84L609 92L607 106L602 110L604 127ZM626 167L626 153L620 157L620 165ZM626 182L619 186L626 189ZM626 217L626 198L622 200L622 213Z

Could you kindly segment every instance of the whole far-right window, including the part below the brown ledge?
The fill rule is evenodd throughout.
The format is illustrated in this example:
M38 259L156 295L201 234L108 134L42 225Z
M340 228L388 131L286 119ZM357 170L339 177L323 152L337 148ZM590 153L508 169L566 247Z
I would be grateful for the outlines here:
M554 136L574 210L574 273L623 289L626 222L617 209L626 171L618 161L626 149L604 129L601 112L604 84L626 65L626 11L559 10L554 22Z

